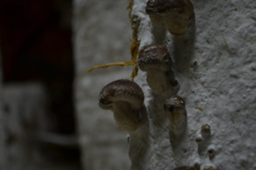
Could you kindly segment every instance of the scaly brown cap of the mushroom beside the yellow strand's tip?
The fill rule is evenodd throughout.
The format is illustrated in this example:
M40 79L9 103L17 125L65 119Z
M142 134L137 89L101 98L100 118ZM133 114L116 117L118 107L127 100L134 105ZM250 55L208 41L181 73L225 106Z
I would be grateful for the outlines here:
M152 69L168 71L171 69L172 63L167 48L155 44L144 46L137 58L138 67L143 71Z

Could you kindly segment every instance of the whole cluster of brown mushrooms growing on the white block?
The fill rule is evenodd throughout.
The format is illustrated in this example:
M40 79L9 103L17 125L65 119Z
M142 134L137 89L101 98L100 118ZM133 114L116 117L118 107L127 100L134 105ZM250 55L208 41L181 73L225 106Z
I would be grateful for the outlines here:
M149 15L152 25L164 28L164 33L168 30L169 33L174 35L186 34L188 28L192 25L192 21L194 21L194 11L190 0L149 0L145 11ZM162 31L162 29L160 30ZM181 36L181 39L183 38ZM187 43L184 44L185 47L187 47L186 45ZM165 123L169 125L171 145L174 146L173 144L176 142L180 143L181 139L183 139L182 137L186 137L188 128L186 104L185 100L177 95L180 85L175 79L172 67L173 61L167 46L159 44L143 46L138 52L137 66L140 70L146 72L146 81L154 94L153 97L161 99L162 108L155 110L162 112L164 120L168 120ZM165 103L163 103L164 100ZM149 136L151 132L149 129L155 127L152 119L156 118L150 117L147 109L144 109L143 90L136 82L126 79L110 82L101 89L99 106L102 109L113 111L113 116L119 130L130 132L131 141L132 137L142 139L143 136ZM149 118L145 118L147 116L151 118L151 122L148 121ZM149 124L148 129L142 128L145 119L148 121L147 125ZM198 150L205 149L204 144L202 145L201 143L207 141L210 136L210 125L203 124L199 136L196 137ZM142 145L149 145L148 141L144 140L144 138L141 141L143 144L140 143L135 149L130 149L131 157L135 157L137 149L142 148ZM206 148L208 149L208 156L212 160L216 155L216 149L211 145L206 146ZM145 152L146 149L143 148L142 150L142 152ZM136 159L138 157L141 157L141 153L137 155ZM208 164L201 166L198 163L194 167L175 167L174 170L198 170L200 167L203 167L205 170L216 169L214 166Z

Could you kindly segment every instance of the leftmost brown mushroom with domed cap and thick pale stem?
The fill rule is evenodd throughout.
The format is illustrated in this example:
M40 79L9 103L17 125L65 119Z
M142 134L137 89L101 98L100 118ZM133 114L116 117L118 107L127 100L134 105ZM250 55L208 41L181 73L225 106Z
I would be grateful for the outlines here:
M99 106L113 111L114 119L123 131L136 131L143 107L143 90L136 82L117 80L101 89Z

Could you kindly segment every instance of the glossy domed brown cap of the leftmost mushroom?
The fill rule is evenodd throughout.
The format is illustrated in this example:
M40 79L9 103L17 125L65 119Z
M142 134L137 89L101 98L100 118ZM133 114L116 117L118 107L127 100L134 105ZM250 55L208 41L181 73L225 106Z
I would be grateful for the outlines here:
M136 82L125 79L110 82L101 89L99 106L102 109L112 109L115 101L127 102L132 110L137 110L143 106L143 90Z

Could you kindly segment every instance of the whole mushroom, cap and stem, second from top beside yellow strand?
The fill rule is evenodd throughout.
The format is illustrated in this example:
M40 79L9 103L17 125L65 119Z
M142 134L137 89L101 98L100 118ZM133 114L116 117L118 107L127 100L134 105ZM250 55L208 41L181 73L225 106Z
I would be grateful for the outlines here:
M137 64L140 70L147 71L147 82L155 94L162 94L172 88L174 83L170 75L172 69L172 58L165 46L149 45L144 46L139 52Z

